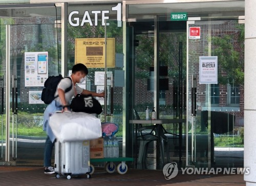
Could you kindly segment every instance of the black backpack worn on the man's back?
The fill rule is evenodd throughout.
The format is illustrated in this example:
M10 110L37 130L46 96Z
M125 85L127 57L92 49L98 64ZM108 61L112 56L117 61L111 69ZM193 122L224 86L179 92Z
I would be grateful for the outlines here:
M46 104L50 104L56 97L58 97L54 95L56 93L57 86L61 81L61 79L63 79L61 74L57 76L52 75L46 79L44 84L45 88L42 89L42 94L41 94L41 100L44 101ZM72 82L71 78L70 78L70 81ZM69 92L71 89L72 89L72 83L70 87L65 90L65 93Z

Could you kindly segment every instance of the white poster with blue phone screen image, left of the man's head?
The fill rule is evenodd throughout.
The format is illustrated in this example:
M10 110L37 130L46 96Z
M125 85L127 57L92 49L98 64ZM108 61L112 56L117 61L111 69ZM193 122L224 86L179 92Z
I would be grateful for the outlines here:
M48 51L25 52L25 87L44 87L48 78Z

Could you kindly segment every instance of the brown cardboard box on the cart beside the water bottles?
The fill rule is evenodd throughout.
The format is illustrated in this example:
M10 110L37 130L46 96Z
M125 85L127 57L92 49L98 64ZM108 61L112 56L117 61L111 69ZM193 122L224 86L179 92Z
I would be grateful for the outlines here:
M103 158L103 138L90 140L90 158Z

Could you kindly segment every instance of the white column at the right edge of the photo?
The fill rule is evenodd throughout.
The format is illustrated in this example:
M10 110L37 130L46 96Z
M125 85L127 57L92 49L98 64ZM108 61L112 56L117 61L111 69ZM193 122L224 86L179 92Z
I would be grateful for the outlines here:
M256 185L256 3L245 0L245 94L244 94L244 174L246 185Z

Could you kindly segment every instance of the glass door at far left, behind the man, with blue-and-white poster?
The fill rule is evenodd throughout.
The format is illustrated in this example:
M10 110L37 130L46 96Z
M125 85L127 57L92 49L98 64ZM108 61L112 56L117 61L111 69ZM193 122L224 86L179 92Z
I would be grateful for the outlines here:
M40 100L48 75L60 69L58 8L1 7L1 162L41 166L46 132ZM57 11L57 12L56 12Z

